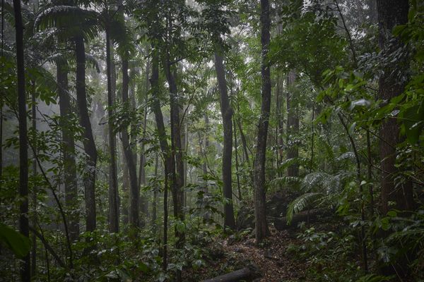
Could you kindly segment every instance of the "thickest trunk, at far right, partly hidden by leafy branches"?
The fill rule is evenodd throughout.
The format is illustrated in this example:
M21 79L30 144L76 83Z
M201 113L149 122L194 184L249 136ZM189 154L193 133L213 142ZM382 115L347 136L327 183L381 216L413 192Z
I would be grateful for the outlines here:
M379 48L384 56L391 56L394 51L404 47L400 39L391 40L391 30L395 25L408 22L408 0L377 0L379 19ZM379 98L389 101L404 91L405 84L400 82L398 73L406 73L408 68L407 58L398 59L387 66L379 78ZM382 213L389 211L389 202L396 202L397 209L411 209L413 201L412 185L399 185L396 187L395 174L396 145L399 143L399 125L396 118L386 118L380 127L380 159L382 170Z

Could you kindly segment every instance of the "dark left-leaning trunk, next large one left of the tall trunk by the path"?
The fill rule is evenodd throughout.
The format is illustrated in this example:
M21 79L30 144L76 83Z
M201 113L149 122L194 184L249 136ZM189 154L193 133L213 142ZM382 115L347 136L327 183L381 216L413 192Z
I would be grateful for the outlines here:
M215 69L220 92L220 109L223 116L224 146L223 146L223 194L224 228L235 229L234 208L232 206L232 108L228 98L227 81L225 80L225 67L222 49L218 47L215 52Z

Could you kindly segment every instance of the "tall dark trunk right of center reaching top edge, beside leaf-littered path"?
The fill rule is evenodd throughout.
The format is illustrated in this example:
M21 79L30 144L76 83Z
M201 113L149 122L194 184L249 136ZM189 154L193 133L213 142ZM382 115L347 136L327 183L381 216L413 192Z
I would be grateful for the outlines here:
M269 1L261 0L261 80L262 80L262 104L261 116L259 117L257 153L254 160L254 219L255 237L257 243L269 234L266 222L266 195L265 195L265 161L266 161L266 137L268 135L269 111L271 109L271 72L268 63L268 50L270 40Z

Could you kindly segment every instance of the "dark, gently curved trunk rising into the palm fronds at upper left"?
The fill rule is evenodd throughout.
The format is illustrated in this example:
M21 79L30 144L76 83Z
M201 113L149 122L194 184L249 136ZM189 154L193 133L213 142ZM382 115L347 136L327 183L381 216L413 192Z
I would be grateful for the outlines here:
M84 171L84 187L86 200L86 231L95 231L95 168L97 165L97 149L95 147L93 130L91 130L90 116L86 97L86 50L83 36L75 39L76 46L76 101L80 125L84 130L83 145L87 154L87 166Z

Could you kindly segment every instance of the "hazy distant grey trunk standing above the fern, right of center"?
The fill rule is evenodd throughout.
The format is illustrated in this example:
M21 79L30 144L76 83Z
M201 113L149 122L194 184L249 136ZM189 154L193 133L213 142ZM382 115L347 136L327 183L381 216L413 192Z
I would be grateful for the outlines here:
M298 145L295 144L295 135L299 133L298 102L295 98L296 72L291 70L287 75L287 159L299 157ZM298 164L288 167L287 176L299 176Z

